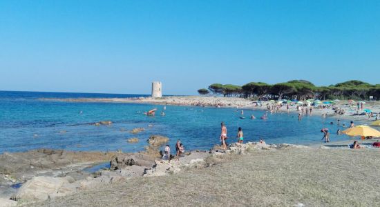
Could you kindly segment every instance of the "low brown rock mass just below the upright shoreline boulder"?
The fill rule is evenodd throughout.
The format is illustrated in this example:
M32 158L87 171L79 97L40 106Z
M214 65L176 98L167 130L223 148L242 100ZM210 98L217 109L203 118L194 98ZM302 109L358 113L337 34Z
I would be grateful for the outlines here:
M144 166L151 168L154 164L154 157L136 153L133 155L117 155L111 160L111 170L118 170L126 166Z

